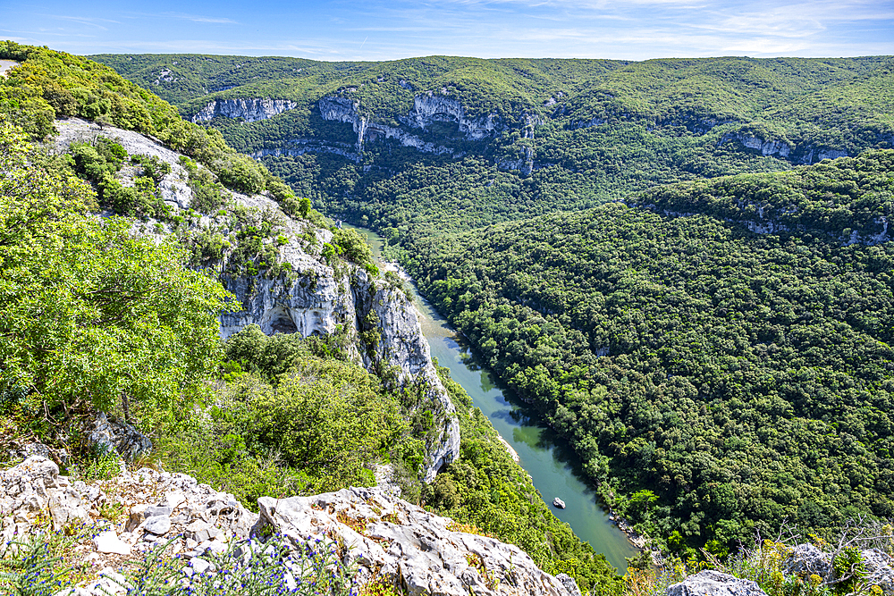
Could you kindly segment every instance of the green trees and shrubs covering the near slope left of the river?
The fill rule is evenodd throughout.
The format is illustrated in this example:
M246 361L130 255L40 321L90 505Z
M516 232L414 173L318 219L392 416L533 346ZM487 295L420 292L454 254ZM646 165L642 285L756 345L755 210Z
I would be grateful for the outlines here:
M372 468L390 463L406 499L518 544L585 589L620 592L615 570L552 516L445 369L462 406L462 453L423 486L407 392L352 364L344 334L268 338L249 327L221 342L218 315L240 306L219 274L298 274L277 263L283 222L237 205L230 189L265 191L287 213L331 226L306 199L107 67L12 42L0 55L21 62L0 78L0 461L17 442L38 440L69 449L72 469L111 469L86 439L104 411L150 433L166 469L232 491L249 508L262 495L374 484ZM57 109L54 93L74 100ZM127 115L144 112L156 115ZM56 116L151 133L181 150L190 140L193 159L181 164L194 208L164 204L158 183L171 166L128 155L111 131L61 155L30 143L51 133ZM133 186L119 180L125 166ZM115 215L98 218L100 209ZM342 255L375 274L357 234L332 231L329 262L353 266L339 264ZM208 265L223 264L224 248L217 273Z

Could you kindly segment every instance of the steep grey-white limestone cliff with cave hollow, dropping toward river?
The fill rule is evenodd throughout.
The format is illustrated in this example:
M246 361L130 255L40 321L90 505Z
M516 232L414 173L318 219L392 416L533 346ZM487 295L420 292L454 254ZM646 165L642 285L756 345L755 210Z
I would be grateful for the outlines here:
M341 327L358 345L361 332L374 331L375 344L356 350L354 356L371 371L394 367L398 382L422 391L425 399L418 407L431 411L435 422L423 477L425 482L433 481L438 470L459 456L460 423L434 369L416 307L400 290L375 280L365 270L351 267L350 273L339 275L296 244L283 248L281 260L300 273L291 284L263 276L226 281L243 310L221 315L223 337L252 323L267 334L299 333L302 337L333 333Z

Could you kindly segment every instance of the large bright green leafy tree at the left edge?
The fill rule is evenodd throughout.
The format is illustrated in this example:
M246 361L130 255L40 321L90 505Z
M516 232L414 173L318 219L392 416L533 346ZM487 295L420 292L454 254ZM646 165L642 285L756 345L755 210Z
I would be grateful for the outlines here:
M0 401L134 409L195 394L228 294L173 242L89 213L92 189L40 167L0 122ZM144 407L146 407L144 409Z

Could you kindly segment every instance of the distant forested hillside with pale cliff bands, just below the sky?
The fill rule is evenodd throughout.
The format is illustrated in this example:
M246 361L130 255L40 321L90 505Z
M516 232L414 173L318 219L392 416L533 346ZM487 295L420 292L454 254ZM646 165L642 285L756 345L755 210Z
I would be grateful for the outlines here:
M890 57L97 59L187 117L224 100L293 102L256 122L217 114L208 123L315 206L394 244L894 139ZM347 112L333 115L325 98Z

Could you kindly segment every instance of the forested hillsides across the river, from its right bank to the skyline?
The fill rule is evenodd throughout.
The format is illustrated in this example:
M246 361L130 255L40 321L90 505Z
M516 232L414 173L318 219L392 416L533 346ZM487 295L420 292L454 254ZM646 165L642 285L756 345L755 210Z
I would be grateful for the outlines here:
M97 58L293 102L207 126L380 233L662 550L887 515L890 58Z

